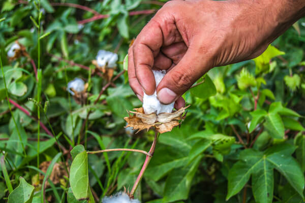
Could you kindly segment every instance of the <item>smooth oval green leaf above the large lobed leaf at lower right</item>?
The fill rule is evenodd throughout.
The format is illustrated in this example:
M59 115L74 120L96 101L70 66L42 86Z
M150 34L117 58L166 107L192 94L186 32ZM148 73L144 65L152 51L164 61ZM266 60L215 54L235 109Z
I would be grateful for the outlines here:
M264 127L272 138L283 139L285 134L284 123L281 116L277 113L268 113L265 117Z

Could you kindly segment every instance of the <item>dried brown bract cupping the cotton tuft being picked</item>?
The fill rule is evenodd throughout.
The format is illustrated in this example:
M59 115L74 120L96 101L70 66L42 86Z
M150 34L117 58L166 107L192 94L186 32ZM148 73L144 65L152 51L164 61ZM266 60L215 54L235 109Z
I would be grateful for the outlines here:
M185 119L184 112L188 107L183 107L173 113L160 113L158 115L156 113L145 114L142 107L134 109L135 111L127 111L129 117L124 118L128 123L125 127L132 127L138 131L155 127L159 133L168 132Z

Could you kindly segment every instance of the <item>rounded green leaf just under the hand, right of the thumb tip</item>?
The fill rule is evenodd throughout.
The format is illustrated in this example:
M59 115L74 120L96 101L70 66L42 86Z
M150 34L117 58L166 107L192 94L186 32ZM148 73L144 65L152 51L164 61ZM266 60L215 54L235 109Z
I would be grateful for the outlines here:
M203 82L204 81L204 82ZM203 83L202 83L203 82ZM201 83L201 84L199 84ZM205 74L202 78L200 78L196 84L199 84L193 88L191 88L191 94L198 98L206 99L210 96L213 96L217 93L216 87L210 77Z

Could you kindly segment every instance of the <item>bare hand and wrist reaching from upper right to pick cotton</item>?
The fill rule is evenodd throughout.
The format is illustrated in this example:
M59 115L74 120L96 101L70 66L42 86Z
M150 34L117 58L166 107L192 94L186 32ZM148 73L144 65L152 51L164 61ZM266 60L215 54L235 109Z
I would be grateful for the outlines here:
M142 100L156 90L151 70L166 70L158 98L184 107L181 95L208 70L259 56L304 15L305 0L170 1L129 49L130 86Z

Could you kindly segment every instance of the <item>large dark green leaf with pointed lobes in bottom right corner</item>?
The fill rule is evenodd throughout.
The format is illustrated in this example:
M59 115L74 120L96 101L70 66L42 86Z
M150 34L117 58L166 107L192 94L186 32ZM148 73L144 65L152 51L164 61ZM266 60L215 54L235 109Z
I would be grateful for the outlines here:
M228 175L227 199L237 194L252 175L252 187L256 202L272 202L273 168L279 171L290 185L302 195L304 175L300 166L291 156L292 145L275 145L265 152L246 149L240 152Z

